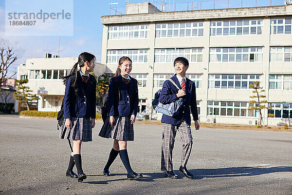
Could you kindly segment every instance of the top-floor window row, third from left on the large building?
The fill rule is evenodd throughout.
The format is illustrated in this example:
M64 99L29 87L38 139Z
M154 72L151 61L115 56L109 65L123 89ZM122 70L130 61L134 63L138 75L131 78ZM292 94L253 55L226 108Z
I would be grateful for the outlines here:
M210 36L261 35L262 26L263 20L212 21Z

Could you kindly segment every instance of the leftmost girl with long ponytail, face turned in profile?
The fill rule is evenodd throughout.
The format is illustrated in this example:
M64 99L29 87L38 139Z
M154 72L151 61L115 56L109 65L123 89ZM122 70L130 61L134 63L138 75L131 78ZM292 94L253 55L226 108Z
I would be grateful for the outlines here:
M96 79L92 72L95 57L83 52L78 57L69 75L61 77L66 86L64 96L64 118L60 131L61 139L73 139L73 152L70 156L66 176L86 179L82 170L81 143L92 141L92 128L95 126L96 115ZM80 70L78 70L78 65ZM73 172L76 165L77 175Z

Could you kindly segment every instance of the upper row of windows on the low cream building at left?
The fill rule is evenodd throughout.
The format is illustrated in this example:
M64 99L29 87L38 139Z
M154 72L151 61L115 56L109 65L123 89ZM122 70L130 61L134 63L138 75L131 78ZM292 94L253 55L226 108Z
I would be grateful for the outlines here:
M70 70L29 70L29 79L59 79L61 76L66 76Z

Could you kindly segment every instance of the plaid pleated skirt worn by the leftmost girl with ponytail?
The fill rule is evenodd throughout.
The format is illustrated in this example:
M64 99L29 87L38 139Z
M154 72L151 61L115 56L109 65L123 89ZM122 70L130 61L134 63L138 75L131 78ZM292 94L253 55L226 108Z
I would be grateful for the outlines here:
M65 127L65 120L61 127L59 137L61 139L74 139L81 141L92 141L91 118L71 117L72 129Z

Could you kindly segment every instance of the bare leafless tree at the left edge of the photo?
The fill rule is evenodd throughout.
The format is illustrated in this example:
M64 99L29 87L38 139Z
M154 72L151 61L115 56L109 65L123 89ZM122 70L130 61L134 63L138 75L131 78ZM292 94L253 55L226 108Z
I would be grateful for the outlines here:
M7 79L9 67L18 59L17 53L15 45L10 44L5 39L0 39L0 85Z

